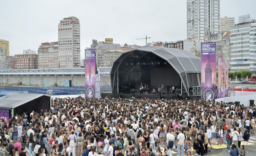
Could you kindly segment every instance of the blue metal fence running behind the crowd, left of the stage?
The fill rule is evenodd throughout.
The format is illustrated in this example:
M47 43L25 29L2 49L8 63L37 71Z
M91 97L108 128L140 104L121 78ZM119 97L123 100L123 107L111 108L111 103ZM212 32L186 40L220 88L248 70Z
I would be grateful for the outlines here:
M111 86L101 86L101 93L111 93ZM72 87L6 87L0 88L0 93L24 93L24 94L47 94L51 90L53 95L78 95L85 94L85 86Z

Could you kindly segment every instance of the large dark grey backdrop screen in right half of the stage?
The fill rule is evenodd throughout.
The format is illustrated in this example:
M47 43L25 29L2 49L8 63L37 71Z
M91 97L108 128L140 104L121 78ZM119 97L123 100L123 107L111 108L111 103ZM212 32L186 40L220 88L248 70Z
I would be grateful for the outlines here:
M152 67L151 68L151 86L164 84L166 86L179 86L179 74L171 67Z

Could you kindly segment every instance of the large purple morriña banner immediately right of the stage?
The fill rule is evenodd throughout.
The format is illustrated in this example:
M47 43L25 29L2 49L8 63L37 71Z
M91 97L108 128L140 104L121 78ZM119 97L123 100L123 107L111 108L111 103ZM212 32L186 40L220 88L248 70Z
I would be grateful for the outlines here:
M201 43L201 99L215 102L216 42Z

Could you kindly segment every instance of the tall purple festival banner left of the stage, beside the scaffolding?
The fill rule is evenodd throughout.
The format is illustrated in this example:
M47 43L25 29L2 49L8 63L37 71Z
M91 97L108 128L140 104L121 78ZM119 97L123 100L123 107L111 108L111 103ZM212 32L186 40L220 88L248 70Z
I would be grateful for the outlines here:
M95 98L95 49L85 50L85 97Z

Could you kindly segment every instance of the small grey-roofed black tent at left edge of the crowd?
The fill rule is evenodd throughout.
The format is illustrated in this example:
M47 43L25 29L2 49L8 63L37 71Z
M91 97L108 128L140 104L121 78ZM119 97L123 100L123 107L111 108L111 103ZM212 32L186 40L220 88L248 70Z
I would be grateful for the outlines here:
M9 115L30 114L32 111L49 110L51 96L45 94L11 93L0 97L0 109L10 110Z

